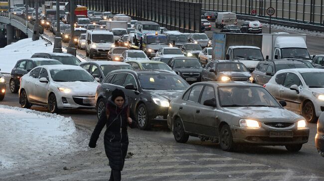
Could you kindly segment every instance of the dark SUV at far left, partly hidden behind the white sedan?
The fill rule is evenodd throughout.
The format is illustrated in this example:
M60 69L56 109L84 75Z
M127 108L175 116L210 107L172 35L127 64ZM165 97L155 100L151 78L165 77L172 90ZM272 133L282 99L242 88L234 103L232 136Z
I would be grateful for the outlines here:
M17 93L20 87L20 77L28 73L34 67L39 65L55 65L55 64L62 64L62 63L59 62L58 60L40 59L40 58L18 60L10 73L11 75L9 81L10 91L12 93Z

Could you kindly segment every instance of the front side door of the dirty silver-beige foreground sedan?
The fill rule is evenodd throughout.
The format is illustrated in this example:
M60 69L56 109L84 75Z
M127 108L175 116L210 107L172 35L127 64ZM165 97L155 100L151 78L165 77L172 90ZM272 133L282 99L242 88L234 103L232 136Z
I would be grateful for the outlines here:
M203 88L199 101L200 106L196 109L197 118L194 119L196 131L199 134L216 136L216 125L219 124L219 121L216 119L215 108L203 105L206 100L213 100L216 103L215 90L209 85Z

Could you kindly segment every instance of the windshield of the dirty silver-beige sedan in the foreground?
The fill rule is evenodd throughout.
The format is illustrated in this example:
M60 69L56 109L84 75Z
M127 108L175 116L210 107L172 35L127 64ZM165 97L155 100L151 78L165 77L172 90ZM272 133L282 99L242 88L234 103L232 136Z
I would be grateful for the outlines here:
M221 107L280 107L263 87L221 86L218 87L218 98Z

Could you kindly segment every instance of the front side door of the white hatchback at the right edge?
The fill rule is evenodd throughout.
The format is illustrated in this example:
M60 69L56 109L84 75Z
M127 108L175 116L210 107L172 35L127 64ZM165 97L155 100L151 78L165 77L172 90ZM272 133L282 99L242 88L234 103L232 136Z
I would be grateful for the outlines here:
M299 88L299 93L296 90L291 90L290 87L292 85L297 85ZM284 86L279 92L279 97L287 102L286 108L294 111L299 112L301 106L301 93L303 91L303 84L301 79L295 73L287 73Z

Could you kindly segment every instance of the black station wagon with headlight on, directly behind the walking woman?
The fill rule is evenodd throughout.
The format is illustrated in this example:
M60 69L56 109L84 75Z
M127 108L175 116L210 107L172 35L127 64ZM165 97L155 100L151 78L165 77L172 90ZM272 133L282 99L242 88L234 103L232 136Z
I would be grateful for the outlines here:
M97 117L105 118L107 100L118 88L125 92L139 128L149 129L156 122L166 122L170 100L188 86L180 76L163 70L112 71L97 88Z

